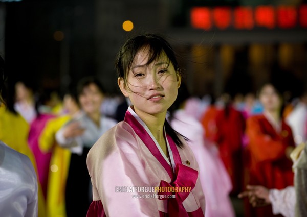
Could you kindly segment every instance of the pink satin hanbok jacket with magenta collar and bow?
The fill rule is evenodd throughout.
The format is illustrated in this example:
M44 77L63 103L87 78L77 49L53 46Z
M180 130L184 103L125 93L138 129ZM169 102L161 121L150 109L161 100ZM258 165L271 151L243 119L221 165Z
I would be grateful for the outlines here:
M166 138L169 158L129 107L87 156L93 184L87 216L204 216L198 163L185 141L179 148Z

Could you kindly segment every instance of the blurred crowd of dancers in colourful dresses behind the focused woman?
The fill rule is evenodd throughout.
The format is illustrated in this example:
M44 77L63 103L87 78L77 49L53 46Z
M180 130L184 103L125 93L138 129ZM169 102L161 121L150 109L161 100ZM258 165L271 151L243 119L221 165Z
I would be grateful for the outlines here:
M0 107L0 127L6 126L0 140L35 165L39 216L83 216L76 213L86 214L92 201L86 154L124 119L129 100L109 95L93 77L83 78L63 96L58 90L34 91L23 81L14 87L7 92L7 105ZM307 139L306 92L291 99L289 92L265 84L257 93L200 98L189 95L183 84L169 115L175 130L176 120L186 120L178 131L191 147L201 144L207 150L196 156L204 170L206 216L234 216L229 196L236 197L247 184L277 189L293 185L289 153ZM221 206L223 200L228 206ZM245 216L272 212L265 207L255 215L253 209L247 202Z

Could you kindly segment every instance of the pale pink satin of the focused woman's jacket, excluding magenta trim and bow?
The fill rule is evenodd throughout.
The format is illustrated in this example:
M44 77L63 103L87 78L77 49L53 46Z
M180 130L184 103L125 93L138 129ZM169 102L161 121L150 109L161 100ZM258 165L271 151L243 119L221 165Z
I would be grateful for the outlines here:
M137 130L137 129L136 129ZM178 148L184 165L198 170L192 151ZM167 200L158 198L133 198L133 195L150 195L150 192L116 192L116 187L155 187L161 180L171 182L160 161L151 154L135 130L120 122L106 132L92 147L87 157L87 167L93 184L93 200L101 200L106 216L159 216L167 213ZM202 210L205 197L199 179L183 202L187 212ZM88 215L89 216L89 215Z

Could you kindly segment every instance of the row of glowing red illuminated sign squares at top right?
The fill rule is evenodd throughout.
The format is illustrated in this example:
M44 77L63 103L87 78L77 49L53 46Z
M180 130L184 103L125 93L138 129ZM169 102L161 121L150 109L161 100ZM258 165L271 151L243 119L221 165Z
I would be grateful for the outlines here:
M253 29L255 27L289 29L307 28L307 5L252 7L194 7L190 14L193 28L209 30L218 28Z

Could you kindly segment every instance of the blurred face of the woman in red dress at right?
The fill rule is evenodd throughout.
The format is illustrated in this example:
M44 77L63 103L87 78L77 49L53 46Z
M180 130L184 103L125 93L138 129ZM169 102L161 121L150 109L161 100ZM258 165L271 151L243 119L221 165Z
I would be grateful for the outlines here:
M265 85L260 94L259 100L264 106L265 110L276 111L280 109L281 100L275 88L271 84Z

